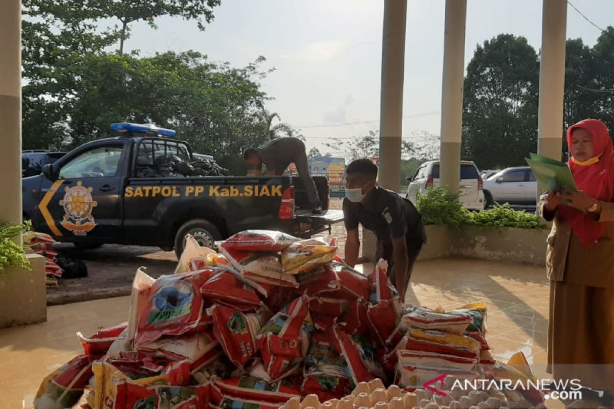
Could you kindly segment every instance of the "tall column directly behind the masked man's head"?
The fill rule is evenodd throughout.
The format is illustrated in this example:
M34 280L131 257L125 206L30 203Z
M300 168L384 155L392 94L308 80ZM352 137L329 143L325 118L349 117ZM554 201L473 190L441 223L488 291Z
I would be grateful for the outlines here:
M379 185L398 192L403 129L403 68L407 0L384 1L381 101L379 105Z

